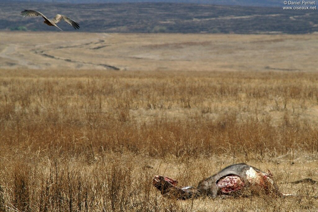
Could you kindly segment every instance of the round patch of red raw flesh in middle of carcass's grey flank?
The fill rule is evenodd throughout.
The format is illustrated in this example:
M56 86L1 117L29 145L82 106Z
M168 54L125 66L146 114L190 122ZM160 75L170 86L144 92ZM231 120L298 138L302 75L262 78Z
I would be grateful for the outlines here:
M238 175L231 174L220 178L220 180L217 182L217 185L221 188L222 194L228 194L243 188L244 180Z

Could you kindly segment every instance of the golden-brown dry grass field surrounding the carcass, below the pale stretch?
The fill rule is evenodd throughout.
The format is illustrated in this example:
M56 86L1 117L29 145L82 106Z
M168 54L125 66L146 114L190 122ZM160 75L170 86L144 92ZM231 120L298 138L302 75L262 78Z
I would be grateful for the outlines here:
M318 76L305 72L0 70L0 211L316 211ZM293 198L168 200L270 169Z

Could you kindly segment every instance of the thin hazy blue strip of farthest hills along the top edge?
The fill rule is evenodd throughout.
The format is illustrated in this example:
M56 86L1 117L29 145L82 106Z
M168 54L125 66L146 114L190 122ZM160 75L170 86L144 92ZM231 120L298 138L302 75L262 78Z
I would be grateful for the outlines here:
M25 2L54 2L54 3L137 3L137 2L166 2L166 3L198 3L216 5L242 6L282 6L282 0L20 0Z

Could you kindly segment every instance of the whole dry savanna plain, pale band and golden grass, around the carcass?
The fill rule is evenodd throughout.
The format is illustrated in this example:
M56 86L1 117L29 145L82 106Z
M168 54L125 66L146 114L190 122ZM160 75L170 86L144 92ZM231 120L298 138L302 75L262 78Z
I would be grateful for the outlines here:
M0 211L318 211L318 37L0 32ZM232 163L294 197L166 199Z

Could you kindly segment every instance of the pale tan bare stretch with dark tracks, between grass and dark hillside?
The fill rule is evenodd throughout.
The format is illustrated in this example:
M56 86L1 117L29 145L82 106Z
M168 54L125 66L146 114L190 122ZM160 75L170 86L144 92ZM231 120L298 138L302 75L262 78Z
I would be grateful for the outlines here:
M2 68L318 70L316 35L0 32L0 36Z

